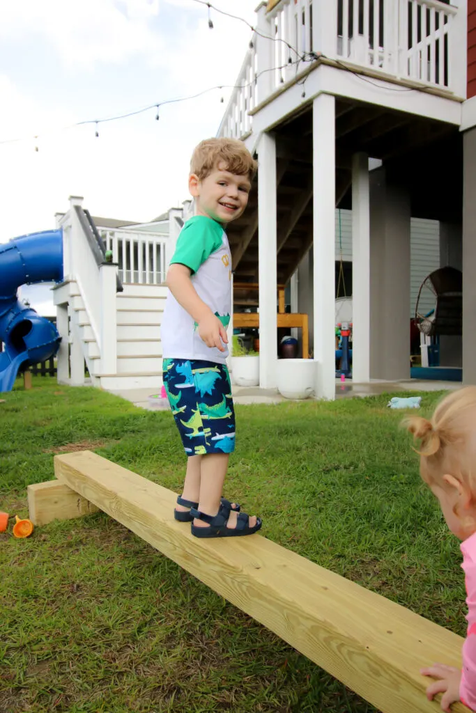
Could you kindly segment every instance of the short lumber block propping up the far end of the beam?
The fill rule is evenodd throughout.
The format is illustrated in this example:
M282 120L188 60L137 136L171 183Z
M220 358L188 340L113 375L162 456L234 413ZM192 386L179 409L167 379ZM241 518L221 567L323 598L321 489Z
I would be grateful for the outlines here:
M29 518L34 525L70 520L96 513L98 508L59 481L36 483L26 488Z

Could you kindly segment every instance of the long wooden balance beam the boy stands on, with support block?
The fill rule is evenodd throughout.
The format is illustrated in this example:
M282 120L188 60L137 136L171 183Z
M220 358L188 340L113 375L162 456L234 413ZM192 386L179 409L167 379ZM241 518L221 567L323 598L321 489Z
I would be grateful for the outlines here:
M53 503L59 486L66 495L70 488L63 516L93 503L381 712L440 710L419 670L436 661L460 667L461 637L260 535L194 538L173 518L176 493L95 453L55 456L54 470L59 482L28 488L34 521L40 497L49 518L48 488ZM452 710L468 711L461 703Z

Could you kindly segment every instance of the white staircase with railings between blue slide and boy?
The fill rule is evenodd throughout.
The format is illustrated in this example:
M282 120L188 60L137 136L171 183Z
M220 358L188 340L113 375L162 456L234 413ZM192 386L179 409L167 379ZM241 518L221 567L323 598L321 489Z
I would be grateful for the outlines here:
M56 215L64 259L64 281L53 290L59 381L84 384L86 362L94 386L160 388L163 282L190 205L136 224L93 218L71 196L68 212Z

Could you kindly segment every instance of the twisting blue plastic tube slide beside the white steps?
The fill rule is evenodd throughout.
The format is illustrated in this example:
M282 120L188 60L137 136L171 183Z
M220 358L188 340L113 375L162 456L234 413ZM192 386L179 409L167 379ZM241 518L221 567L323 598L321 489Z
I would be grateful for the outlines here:
M0 391L11 391L22 366L50 359L61 342L54 324L21 304L16 290L22 284L62 279L61 230L31 233L0 245Z

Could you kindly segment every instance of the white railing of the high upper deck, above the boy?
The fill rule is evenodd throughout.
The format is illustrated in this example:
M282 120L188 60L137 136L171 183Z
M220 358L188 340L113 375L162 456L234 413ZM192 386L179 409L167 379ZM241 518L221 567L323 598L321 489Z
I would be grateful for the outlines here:
M454 1L458 6L440 0L281 0L268 14L262 6L259 34L253 34L218 135L248 135L248 112L308 66L312 53L465 97L467 0Z

